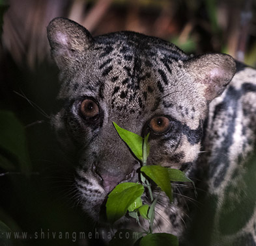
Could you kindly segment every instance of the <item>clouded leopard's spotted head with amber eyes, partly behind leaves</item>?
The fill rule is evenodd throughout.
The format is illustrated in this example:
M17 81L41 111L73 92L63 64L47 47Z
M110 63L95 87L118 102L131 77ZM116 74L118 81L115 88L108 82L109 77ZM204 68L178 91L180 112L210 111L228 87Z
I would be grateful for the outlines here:
M109 191L138 180L140 164L113 121L141 136L150 133L149 165L190 170L208 104L235 74L231 56L192 57L172 43L128 31L92 38L64 18L50 22L48 39L63 105L52 124L65 152L76 156L76 187L88 214L99 219Z

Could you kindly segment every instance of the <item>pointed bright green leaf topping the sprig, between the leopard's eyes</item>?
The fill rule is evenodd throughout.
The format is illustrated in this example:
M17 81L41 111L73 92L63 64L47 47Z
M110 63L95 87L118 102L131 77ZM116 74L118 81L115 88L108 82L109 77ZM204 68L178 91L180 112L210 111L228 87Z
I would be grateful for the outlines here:
M142 161L143 153L142 153L142 147L143 147L143 138L134 132L130 132L129 130L122 129L117 125L117 123L113 122L115 129L117 130L119 136L122 138L122 140L128 145L132 153L135 154L135 156Z

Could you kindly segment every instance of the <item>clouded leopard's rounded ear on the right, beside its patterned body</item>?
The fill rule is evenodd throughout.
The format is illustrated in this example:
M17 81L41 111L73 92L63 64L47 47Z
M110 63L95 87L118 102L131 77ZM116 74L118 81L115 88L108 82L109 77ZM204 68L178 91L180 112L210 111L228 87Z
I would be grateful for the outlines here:
M185 68L204 87L204 97L210 102L221 95L235 75L236 62L229 55L206 54L188 60Z

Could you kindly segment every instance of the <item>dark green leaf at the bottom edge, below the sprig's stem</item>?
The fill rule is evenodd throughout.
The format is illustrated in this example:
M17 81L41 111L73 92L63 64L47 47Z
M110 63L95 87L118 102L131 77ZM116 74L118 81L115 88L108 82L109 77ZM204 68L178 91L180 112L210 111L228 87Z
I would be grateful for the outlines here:
M172 234L154 233L148 234L139 242L139 246L178 246L178 238Z

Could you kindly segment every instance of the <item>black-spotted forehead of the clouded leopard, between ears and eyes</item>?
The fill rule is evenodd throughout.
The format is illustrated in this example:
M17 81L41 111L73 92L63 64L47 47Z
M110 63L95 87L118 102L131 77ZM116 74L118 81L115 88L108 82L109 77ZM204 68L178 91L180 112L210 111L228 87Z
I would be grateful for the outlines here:
M177 108L185 117L196 104L189 101L195 101L196 90L195 84L186 84L188 74L182 70L186 60L178 47L159 38L135 32L98 36L72 82L63 83L60 95L92 97L120 115L141 116L161 105Z

